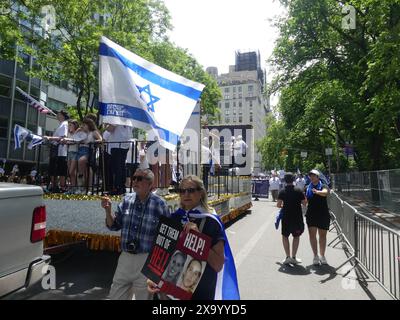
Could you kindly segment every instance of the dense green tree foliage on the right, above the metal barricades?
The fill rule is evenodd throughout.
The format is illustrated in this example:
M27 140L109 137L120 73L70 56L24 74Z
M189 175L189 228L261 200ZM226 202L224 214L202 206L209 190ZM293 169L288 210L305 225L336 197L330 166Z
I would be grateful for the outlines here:
M308 160L327 168L330 147L333 169L343 171L354 165L343 153L352 142L357 169L398 167L400 1L281 2L288 16L277 22L271 90L281 92L278 123L294 153L290 165L299 166L299 150L307 150ZM344 5L356 10L355 29L342 28Z

